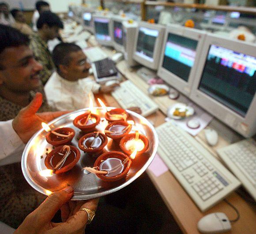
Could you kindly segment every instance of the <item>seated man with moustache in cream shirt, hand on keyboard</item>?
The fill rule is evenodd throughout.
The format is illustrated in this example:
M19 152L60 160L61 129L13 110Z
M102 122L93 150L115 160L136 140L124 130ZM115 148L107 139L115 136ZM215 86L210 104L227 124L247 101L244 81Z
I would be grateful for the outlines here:
M82 49L73 43L60 43L53 49L56 71L45 85L49 105L56 110L77 110L89 107L89 94L109 93L117 84L97 84L89 76L90 64Z

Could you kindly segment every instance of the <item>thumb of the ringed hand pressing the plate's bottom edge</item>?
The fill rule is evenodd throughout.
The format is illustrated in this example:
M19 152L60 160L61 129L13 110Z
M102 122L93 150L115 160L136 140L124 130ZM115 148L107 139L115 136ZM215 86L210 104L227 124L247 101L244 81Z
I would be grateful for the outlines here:
M44 222L50 222L56 212L71 199L73 196L73 188L67 186L64 189L53 192L45 201L33 212L38 216L38 219Z

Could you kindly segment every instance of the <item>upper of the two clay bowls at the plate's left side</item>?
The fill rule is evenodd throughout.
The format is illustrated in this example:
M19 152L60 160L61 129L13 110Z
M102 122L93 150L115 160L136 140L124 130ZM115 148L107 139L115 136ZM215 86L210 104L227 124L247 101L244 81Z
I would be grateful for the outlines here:
M46 141L53 146L69 145L75 137L75 130L70 127L62 127L54 130L56 133L67 135L67 133L73 133L70 137L58 137L53 133L49 132L46 135Z

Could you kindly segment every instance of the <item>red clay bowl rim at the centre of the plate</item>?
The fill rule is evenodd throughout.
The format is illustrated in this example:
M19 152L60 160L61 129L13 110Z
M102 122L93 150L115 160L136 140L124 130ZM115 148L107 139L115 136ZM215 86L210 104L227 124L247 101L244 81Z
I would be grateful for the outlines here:
M97 134L97 132L93 132L93 133L88 133L83 135L83 137L81 137L78 141L78 147L79 149L83 150L83 152L87 152L88 154L91 155L98 155L100 152L102 152L103 148L108 144L108 137L105 134L99 133L98 137L100 137L100 139L102 140L101 145L99 147L96 148L86 148L83 145L83 141L85 141L85 139L89 138L89 137L95 137Z

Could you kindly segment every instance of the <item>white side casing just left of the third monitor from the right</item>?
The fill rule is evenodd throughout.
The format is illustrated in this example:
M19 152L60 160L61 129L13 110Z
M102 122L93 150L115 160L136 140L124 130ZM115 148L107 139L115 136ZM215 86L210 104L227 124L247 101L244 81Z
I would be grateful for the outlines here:
M136 37L136 30L138 27L138 23L136 21L129 23L128 21L123 21L123 29L126 37L124 38L124 59L126 60L129 67L133 67L138 65L133 59L133 51L134 51L134 41Z

